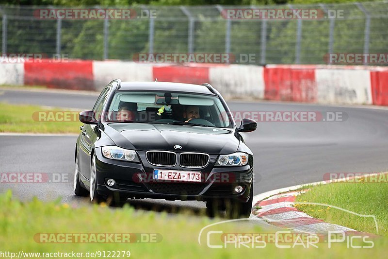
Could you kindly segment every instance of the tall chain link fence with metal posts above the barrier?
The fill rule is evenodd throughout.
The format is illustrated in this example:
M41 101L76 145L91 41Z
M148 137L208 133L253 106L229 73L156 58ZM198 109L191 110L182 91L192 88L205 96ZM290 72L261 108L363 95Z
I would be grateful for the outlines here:
M250 64L326 64L328 53L388 52L388 1L284 6L137 5L129 8L146 15L133 19L42 19L36 15L42 8L65 7L0 6L2 53L65 54L94 60L133 60L139 53L232 53L236 57L253 55ZM229 19L221 15L228 9L317 9L323 17ZM239 58L234 62L242 63Z

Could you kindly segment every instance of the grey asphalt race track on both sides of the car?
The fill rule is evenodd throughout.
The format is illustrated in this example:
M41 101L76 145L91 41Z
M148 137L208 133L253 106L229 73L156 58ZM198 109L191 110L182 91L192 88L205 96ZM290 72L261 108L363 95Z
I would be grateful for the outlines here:
M91 109L96 94L74 94L0 89L0 102ZM259 122L258 129L243 136L255 155L254 194L316 181L324 173L388 171L388 109L289 104L228 102L232 111L342 112L346 121ZM74 196L74 136L0 136L1 173L48 173L68 177L66 183L1 183L22 200L32 196L67 203L87 204ZM67 176L66 176L67 175ZM205 207L202 202L131 200L130 204L155 210Z

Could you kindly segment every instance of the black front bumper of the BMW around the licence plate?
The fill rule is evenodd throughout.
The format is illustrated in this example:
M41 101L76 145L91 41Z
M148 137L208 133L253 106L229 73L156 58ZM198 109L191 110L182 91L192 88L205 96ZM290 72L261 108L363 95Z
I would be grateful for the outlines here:
M96 148L97 192L100 195L113 195L115 192L128 198L154 198L166 200L206 201L215 198L235 199L247 202L253 186L253 156L249 163L239 167L214 167L218 155L210 155L205 168L182 168L179 165L168 167L174 171L197 171L202 173L202 181L172 182L153 180L154 169L167 169L148 163L146 153L137 152L141 163L108 159L102 156L101 148ZM115 184L108 186L107 180ZM242 192L234 188L240 185Z

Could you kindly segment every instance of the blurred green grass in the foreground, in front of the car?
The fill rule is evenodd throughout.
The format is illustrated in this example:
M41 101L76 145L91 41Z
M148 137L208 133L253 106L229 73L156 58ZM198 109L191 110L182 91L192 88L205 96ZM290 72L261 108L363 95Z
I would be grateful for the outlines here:
M387 239L374 240L374 248L347 248L346 242L319 243L319 248L281 249L275 244L265 248L209 248L207 231L202 234L201 245L197 242L202 227L218 222L207 217L194 217L189 212L171 217L166 213L141 212L125 205L111 209L105 205L77 207L71 204L41 202L32 199L21 203L12 197L11 191L0 194L0 247L1 251L23 252L84 252L130 251L131 258L382 258L386 255ZM262 231L253 224L240 222L220 224L208 230L223 233L258 233ZM34 241L37 233L159 233L157 243L40 243ZM218 237L218 236L217 236ZM212 244L221 244L212 239Z

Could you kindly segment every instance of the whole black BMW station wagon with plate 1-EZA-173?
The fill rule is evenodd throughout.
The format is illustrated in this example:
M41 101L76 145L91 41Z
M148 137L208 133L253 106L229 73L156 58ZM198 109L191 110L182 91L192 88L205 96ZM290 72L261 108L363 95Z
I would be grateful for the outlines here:
M253 154L220 93L209 84L121 82L80 113L74 193L91 201L205 201L208 211L249 217Z

